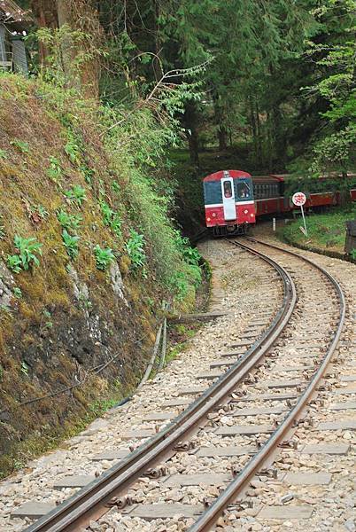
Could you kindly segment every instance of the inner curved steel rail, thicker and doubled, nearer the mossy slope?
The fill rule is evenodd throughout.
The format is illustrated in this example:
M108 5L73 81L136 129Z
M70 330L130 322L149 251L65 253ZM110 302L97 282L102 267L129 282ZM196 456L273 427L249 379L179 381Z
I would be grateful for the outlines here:
M207 389L205 394L200 395L171 424L130 453L128 458L112 466L73 497L58 505L40 520L35 521L33 525L26 528L26 532L70 532L72 530L77 532L86 528L90 520L97 520L104 515L108 511L105 505L112 500L112 497L122 494L159 459L172 452L177 443L192 434L207 414L223 403L253 367L260 362L290 320L297 302L297 293L293 280L286 270L266 255L257 251L252 253L268 262L278 272L283 283L282 308L267 331L252 344L244 356Z

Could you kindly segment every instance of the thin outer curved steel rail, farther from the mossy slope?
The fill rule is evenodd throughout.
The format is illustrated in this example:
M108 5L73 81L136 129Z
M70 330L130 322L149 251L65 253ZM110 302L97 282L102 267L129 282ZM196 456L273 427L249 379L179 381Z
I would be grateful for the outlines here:
M213 505L211 505L206 510L206 512L204 512L197 519L197 521L189 528L188 532L207 532L208 530L211 530L213 528L213 525L221 516L221 513L227 508L229 504L236 501L236 497L238 497L239 493L241 493L241 491L247 486L248 482L252 480L252 477L260 471L263 464L266 462L267 458L269 458L270 455L274 452L278 444L283 441L285 435L290 431L293 422L298 419L299 415L306 408L307 403L313 396L313 393L315 392L318 383L320 382L332 356L334 355L335 349L337 348L337 343L344 328L344 317L346 312L344 293L341 286L337 283L337 280L333 278L328 271L324 270L323 268L321 268L321 266L311 261L310 259L307 259L306 257L303 257L297 253L293 253L290 250L286 250L282 247L274 246L272 244L267 244L266 242L261 242L256 239L247 239L256 244L272 247L282 253L296 256L299 259L304 260L309 264L313 265L317 270L320 270L321 273L329 279L329 281L337 291L338 299L340 301L339 322L337 325L337 331L332 337L331 344L329 345L326 355L321 361L319 369L313 374L313 378L310 380L305 391L298 398L298 402L290 410L289 414L282 420L282 423L276 428L275 432L271 434L271 436L268 438L267 442L264 444L261 450L259 450L259 452L250 460L250 462L245 465L241 473L236 475L234 481L228 484L227 489L225 489L221 493L221 496L213 502ZM249 248L248 246L244 246L241 243L235 244L243 247L246 250L250 249L252 253L256 252L255 249Z

